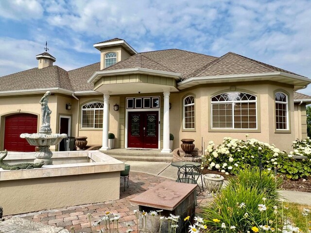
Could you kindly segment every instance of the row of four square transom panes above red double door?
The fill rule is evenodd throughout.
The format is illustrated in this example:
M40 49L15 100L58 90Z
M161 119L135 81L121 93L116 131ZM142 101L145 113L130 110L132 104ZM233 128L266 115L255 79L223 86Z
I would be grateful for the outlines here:
M159 108L160 97L126 98L127 109Z

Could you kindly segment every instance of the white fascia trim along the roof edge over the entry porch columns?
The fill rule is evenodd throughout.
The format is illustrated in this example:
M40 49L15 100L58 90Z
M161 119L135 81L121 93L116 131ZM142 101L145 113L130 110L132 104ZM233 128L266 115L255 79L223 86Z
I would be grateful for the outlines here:
M176 80L181 80L181 74L168 72L168 71L161 71L156 69L146 69L146 68L127 68L127 69L116 69L116 70L103 70L95 72L92 77L87 80L87 83L95 83L98 81L102 76L110 76L110 75L122 75L122 74L135 74L135 73L142 73L142 74L150 74L150 75L160 75L165 77L174 78Z

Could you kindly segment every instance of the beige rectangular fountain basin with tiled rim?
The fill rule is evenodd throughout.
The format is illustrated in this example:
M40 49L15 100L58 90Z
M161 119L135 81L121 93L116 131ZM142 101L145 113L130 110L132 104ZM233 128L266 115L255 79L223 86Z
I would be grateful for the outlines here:
M33 162L35 152L9 152L7 164ZM4 215L120 199L124 163L100 151L53 152L53 165L22 170L0 168Z

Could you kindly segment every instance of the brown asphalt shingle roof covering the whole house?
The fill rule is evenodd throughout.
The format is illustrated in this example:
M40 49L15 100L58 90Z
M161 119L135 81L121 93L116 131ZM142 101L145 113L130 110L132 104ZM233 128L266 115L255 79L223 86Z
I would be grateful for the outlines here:
M117 40L121 39L114 38L103 42ZM280 71L294 74L290 71L273 67L233 52L228 52L224 56L217 58L178 49L141 52L104 69L104 71L136 67L180 73L183 79L201 76L271 73ZM0 91L52 87L60 87L72 91L91 91L93 90L93 84L87 83L87 80L94 72L100 70L99 62L70 71L66 71L58 66L45 67L42 69L33 68L0 77ZM299 98L302 98L302 96ZM299 98L295 97L295 99ZM308 96L306 98L309 99L310 97Z

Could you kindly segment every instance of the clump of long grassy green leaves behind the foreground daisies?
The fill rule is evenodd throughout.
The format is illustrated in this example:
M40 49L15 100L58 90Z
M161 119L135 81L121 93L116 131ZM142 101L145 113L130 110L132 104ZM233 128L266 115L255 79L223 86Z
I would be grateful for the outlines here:
M234 232L247 232L254 226L271 226L269 220L276 219L273 207L278 204L278 195L276 184L273 184L274 177L263 173L261 188L260 179L256 182L259 178L258 169L241 170L237 174L214 201L203 208L210 232L232 232L230 227L235 227ZM267 209L260 211L259 204ZM222 228L222 224L226 227Z

